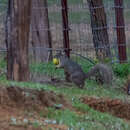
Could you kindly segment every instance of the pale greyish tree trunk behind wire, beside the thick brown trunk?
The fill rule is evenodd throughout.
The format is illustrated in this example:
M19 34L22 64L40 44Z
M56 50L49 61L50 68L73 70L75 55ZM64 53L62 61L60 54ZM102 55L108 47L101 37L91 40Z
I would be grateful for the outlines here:
M36 61L48 61L52 52L47 0L32 0L32 46Z

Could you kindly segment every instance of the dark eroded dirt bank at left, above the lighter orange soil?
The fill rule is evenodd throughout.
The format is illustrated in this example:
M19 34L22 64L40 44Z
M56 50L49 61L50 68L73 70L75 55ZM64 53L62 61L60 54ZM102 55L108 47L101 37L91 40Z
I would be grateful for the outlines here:
M70 106L63 95L56 95L53 91L35 90L20 87L0 87L0 105L35 109L43 107L56 107L62 104L61 108Z

